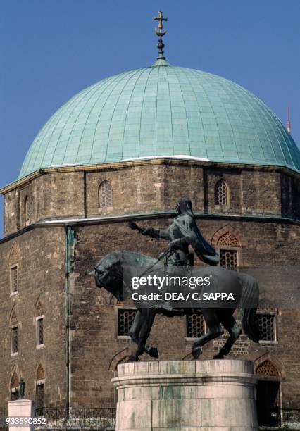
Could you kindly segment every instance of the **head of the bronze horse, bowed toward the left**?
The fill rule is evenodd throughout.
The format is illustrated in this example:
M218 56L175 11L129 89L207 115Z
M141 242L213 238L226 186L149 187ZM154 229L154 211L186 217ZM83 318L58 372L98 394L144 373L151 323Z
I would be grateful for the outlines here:
M120 259L115 253L108 254L94 266L94 270L89 273L96 282L96 286L104 287L111 292L118 301L123 299L123 274L120 266Z

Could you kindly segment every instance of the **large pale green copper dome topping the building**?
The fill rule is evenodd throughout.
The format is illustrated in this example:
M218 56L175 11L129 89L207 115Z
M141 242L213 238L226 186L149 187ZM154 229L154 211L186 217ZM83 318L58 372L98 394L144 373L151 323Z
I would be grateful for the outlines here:
M101 80L63 105L30 146L39 168L192 156L300 170L300 153L256 96L223 77L159 60Z

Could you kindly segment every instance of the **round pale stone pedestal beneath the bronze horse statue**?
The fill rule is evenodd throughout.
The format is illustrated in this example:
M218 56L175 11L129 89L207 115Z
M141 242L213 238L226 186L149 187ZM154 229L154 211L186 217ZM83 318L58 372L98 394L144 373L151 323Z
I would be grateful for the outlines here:
M249 361L123 363L116 431L258 431Z

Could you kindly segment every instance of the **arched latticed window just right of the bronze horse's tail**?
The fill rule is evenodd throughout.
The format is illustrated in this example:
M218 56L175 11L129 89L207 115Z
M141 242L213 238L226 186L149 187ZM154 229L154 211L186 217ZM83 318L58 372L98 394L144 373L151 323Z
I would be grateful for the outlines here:
M262 342L277 342L276 308L267 300L258 304L257 319Z

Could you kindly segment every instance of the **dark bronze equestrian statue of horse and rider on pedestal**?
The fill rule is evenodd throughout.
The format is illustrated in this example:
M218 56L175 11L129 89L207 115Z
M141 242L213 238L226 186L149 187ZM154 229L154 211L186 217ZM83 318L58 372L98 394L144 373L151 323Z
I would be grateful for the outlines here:
M194 254L189 253L189 246L192 246L196 255L208 263L210 267L199 267L199 271L210 273L217 282L215 292L235 292L236 304L243 299L254 297L259 294L258 282L250 275L237 273L236 271L220 268L219 257L215 249L202 237L196 225L192 202L187 198L179 199L177 202L177 216L173 219L168 229L154 229L147 227L142 229L135 223L130 223L132 229L139 230L142 235L149 235L156 239L165 239L169 242L167 251L158 260L149 256L143 256L132 251L113 251L104 256L97 263L90 275L94 276L96 286L104 287L111 292L118 301L123 299L124 277L123 269L128 266L136 268L155 268L163 263L168 273L172 273L175 267L185 267L194 265ZM198 268L197 268L198 270ZM125 288L132 292L130 285ZM236 308L236 306L235 306ZM242 333L241 327L237 325L233 313L235 308L201 308L201 312L206 321L208 332L196 339L192 346L192 355L196 359L201 354L201 346L204 346L211 339L223 334L222 326L229 332L229 337L225 345L220 349L214 358L223 358L229 354L232 345ZM200 308L198 308L200 309ZM190 316L196 310L192 308L176 309L170 308L168 302L161 307L137 308L134 323L130 329L130 337L137 344L137 350L130 357L130 361L138 361L139 356L146 352L150 356L158 358L158 351L155 347L146 344L151 327L156 314L164 314L168 317ZM245 334L254 342L260 339L256 308L245 308L242 312L242 326Z

